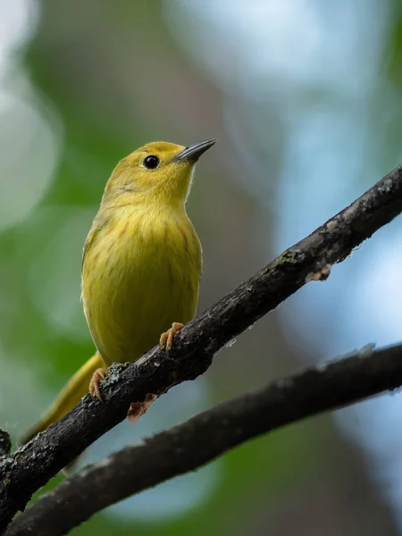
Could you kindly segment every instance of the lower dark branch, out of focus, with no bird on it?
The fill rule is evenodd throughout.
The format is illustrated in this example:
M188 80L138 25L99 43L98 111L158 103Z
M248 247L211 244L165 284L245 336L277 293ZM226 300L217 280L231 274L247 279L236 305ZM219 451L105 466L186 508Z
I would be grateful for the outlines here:
M7 536L67 534L91 515L221 455L246 440L402 384L402 345L326 364L224 402L138 446L121 449L46 493Z

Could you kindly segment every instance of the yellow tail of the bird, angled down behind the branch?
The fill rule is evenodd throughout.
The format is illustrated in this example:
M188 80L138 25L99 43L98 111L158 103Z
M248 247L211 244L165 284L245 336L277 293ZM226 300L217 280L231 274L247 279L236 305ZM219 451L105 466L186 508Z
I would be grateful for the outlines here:
M28 443L39 431L46 430L50 424L61 419L63 415L76 406L80 402L80 399L88 393L88 385L92 374L95 373L97 368L104 368L105 366L105 361L98 352L96 352L95 356L88 359L87 363L83 364L66 383L52 406L42 415L38 423L32 426L21 438L21 445Z

